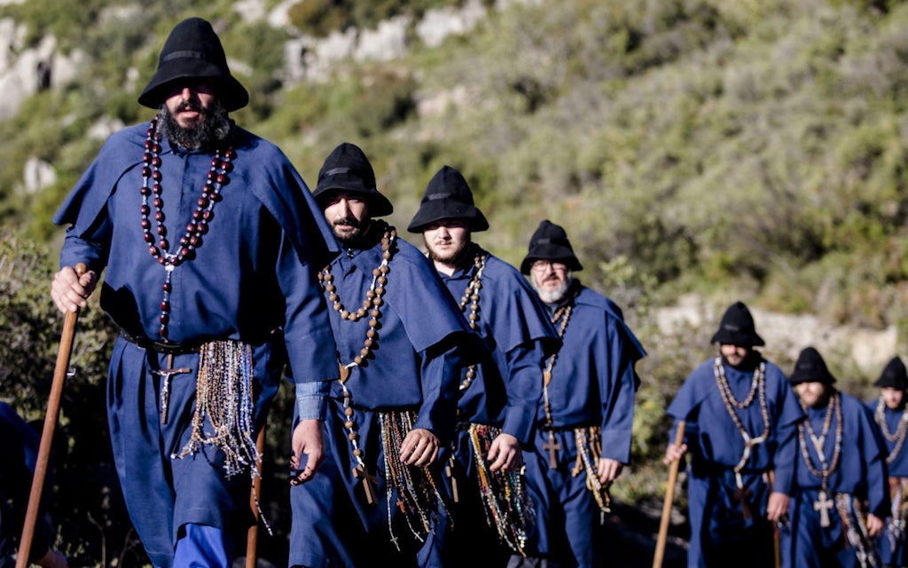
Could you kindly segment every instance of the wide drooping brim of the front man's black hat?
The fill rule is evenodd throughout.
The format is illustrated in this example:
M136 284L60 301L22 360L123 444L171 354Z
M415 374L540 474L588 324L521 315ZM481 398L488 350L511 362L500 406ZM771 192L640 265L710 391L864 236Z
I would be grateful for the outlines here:
M233 112L249 104L249 92L232 75L224 75L217 65L202 59L174 59L158 68L152 80L139 95L139 104L157 109L167 98L167 91L174 83L187 79L212 79L217 86L217 97Z

